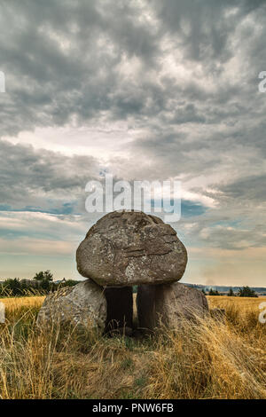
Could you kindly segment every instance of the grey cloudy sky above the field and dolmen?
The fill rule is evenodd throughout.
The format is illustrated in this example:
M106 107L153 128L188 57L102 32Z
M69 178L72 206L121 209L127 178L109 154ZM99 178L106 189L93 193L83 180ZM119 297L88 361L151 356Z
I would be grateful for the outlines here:
M0 5L0 279L79 279L85 185L182 181L183 281L266 286L263 0Z

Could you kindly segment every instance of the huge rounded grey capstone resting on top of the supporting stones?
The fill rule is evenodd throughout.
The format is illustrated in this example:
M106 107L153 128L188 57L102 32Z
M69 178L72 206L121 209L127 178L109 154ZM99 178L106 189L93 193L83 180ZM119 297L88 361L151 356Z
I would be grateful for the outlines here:
M76 253L83 277L110 287L182 278L187 253L176 231L141 211L114 211L94 224Z

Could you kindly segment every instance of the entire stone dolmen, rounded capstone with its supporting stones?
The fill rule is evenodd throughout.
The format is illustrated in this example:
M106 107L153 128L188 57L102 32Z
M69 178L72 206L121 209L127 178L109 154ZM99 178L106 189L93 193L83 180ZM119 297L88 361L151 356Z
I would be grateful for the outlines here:
M159 217L142 211L108 213L94 224L76 252L86 280L47 295L37 322L71 321L100 333L133 331L133 287L138 328L178 328L202 318L207 298L178 281L187 264L184 244Z

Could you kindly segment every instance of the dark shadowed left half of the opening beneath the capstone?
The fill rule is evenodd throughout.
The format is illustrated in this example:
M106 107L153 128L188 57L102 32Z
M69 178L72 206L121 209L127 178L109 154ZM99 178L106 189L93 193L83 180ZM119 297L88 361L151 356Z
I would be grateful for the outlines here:
M133 290L132 287L106 287L107 319L106 332L115 329L129 329L133 327Z

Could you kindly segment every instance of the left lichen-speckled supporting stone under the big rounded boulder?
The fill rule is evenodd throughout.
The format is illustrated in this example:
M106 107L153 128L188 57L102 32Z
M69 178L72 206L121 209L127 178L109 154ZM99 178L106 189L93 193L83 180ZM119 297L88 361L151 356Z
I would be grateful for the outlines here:
M97 328L102 333L106 317L103 288L86 279L74 287L63 287L47 295L39 311L37 325L72 322L82 327Z

